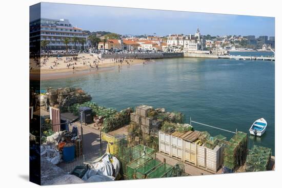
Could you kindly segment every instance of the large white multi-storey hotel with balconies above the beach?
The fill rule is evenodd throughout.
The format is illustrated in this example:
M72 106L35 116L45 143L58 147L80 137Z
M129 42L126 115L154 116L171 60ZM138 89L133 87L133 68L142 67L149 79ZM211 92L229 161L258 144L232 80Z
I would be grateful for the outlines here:
M48 19L41 18L41 40L49 40L47 46L48 50L66 50L66 45L63 43L65 37L79 39L84 38L85 43L76 42L76 49L80 50L88 47L87 37L88 34L84 33L82 29L72 26L68 19ZM68 44L69 49L74 49L74 43L70 40Z

